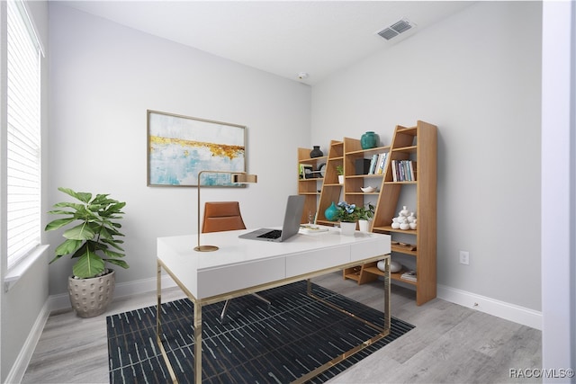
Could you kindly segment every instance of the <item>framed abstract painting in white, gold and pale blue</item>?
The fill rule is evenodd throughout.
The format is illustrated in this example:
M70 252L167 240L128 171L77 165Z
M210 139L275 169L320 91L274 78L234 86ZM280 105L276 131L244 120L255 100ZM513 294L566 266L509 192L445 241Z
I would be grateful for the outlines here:
M197 186L201 171L246 172L246 127L148 111L148 185ZM234 186L229 174L202 174L201 185Z

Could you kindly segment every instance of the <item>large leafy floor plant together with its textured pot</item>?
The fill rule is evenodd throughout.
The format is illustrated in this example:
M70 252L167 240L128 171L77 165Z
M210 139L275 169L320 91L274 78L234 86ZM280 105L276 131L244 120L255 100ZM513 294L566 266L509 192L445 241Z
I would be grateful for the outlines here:
M125 202L110 199L108 194L75 192L69 188L58 191L72 196L79 202L58 202L56 210L48 213L67 216L50 221L45 230L55 230L68 226L62 234L66 240L57 246L54 263L60 257L70 255L76 259L72 276L68 278L70 303L79 317L94 317L102 314L110 301L115 285L115 273L106 268L106 263L128 268L121 260L124 250L119 229L122 208Z

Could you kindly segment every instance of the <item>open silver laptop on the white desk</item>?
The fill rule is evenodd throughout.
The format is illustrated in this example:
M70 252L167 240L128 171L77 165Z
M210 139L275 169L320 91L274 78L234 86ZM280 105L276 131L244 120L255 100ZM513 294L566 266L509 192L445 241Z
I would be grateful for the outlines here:
M300 220L302 219L302 211L304 210L304 196L291 195L288 196L286 202L286 211L284 213L284 224L281 229L260 228L244 235L238 236L239 238L247 238L249 240L262 240L274 241L280 243L293 237L298 233L300 228Z

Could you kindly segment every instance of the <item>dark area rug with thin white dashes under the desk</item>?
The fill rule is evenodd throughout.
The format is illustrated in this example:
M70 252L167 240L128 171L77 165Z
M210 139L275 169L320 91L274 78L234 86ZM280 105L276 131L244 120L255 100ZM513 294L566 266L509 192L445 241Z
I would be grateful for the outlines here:
M314 293L340 308L383 326L383 313L314 285ZM364 322L306 294L306 281L261 295L272 306L247 295L202 308L202 381L208 383L288 383L347 352L378 332ZM170 375L156 343L156 306L106 317L111 383L166 383ZM392 317L391 333L311 383L325 382L414 326ZM193 304L180 299L162 304L164 347L180 383L193 382Z

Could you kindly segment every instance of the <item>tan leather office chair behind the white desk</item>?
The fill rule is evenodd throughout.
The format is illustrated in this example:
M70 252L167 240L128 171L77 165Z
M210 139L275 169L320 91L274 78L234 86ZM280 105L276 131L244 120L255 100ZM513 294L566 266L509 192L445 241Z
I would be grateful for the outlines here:
M246 229L242 215L240 214L240 205L238 201L207 201L204 203L204 220L202 222L202 233L221 232L227 230ZM263 298L257 293L253 293L258 299L271 304L269 300ZM229 301L226 300L220 321L224 321L226 311L229 307Z

